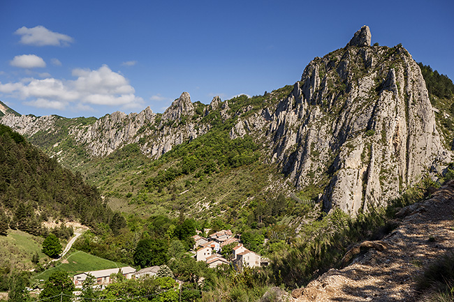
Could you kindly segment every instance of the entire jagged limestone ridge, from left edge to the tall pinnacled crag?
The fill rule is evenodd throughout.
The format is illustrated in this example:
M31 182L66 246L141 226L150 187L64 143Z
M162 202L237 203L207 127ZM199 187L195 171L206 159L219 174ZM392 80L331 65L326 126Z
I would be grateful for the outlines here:
M370 40L369 28L362 27L345 47L311 61L293 86L263 96L215 97L204 105L191 103L184 92L163 114L149 108L101 119L6 114L0 122L72 169L103 162L130 144L152 160L169 154L166 165L156 164L162 172L152 176L168 176L168 167L174 167L175 175L166 181L169 194L171 184L183 177L188 155L176 146L205 146L203 137L213 133L232 140L250 137L260 162L272 167L270 177L279 179L279 190L291 183L290 191L323 202L325 211L339 207L356 215L385 205L423 175L442 172L452 156L447 148L452 137L439 133L418 64L402 45L371 46ZM216 171L225 167L212 161ZM153 192L153 179L141 180L142 192ZM256 193L277 188L276 181L261 186Z

